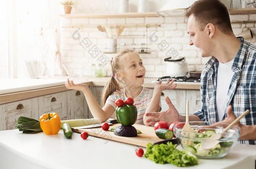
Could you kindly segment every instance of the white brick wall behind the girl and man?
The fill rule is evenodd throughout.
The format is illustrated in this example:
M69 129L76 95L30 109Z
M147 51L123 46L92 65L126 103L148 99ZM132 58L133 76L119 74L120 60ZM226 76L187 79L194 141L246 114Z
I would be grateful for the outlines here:
M256 14L252 15L230 15L231 21L256 20ZM201 71L209 58L201 58L201 50L195 46L188 44L189 37L187 34L187 19L177 17L146 17L146 18L108 18L108 19L61 19L61 26L72 26L81 24L91 25L133 25L133 24L161 24L161 27L148 28L148 48L151 54L140 54L143 63L146 67L147 76L150 78L161 77L165 75L166 64L164 58L167 58L166 53L171 48L178 52L178 56L185 57L188 62L189 71ZM245 24L232 24L235 35L238 35ZM256 27L254 24L246 24L256 34ZM99 32L95 27L81 28L79 30L80 39L74 40L72 34L78 28L63 28L61 30L61 53L62 62L67 67L68 71L74 74L83 73L89 75L89 64L98 63L97 59L103 53L101 52L97 57L93 58L88 50L96 45L100 51L104 51L107 43L107 35ZM109 35L116 35L116 29L107 28ZM133 36L145 35L145 36ZM84 38L88 38L89 46L81 46L80 43ZM159 44L165 40L169 46L165 50L160 50ZM249 42L255 43L256 39ZM146 47L142 43L146 43L146 28L133 27L125 28L123 33L118 37L118 50L120 44L125 44L124 48L135 48L138 51L141 47ZM111 59L116 54L105 54L107 58ZM104 67L109 69L109 66ZM86 70L86 71L85 71ZM87 73L87 74L86 74ZM108 73L111 74L111 73Z

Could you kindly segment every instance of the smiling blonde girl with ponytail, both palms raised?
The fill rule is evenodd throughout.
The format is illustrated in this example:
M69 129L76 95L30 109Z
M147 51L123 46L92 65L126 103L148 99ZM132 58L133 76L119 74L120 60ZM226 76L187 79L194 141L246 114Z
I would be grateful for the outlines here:
M99 106L86 84L74 84L73 81L66 81L68 89L80 90L84 93L91 114L98 118L100 122L107 121L115 113L115 101L125 100L128 97L134 99L138 116L136 124L146 124L148 117L146 112L158 112L161 110L160 96L163 90L172 90L177 85L172 85L173 81L155 84L154 90L142 87L146 69L138 53L126 49L120 52L110 61L112 77L108 81L102 93L102 105Z

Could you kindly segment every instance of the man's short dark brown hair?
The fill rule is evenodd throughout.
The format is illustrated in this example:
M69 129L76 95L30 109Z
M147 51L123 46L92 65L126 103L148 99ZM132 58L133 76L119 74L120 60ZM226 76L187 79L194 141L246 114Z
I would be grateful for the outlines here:
M228 10L219 0L198 0L185 9L185 17L193 15L199 28L204 30L208 23L217 26L222 33L232 33Z

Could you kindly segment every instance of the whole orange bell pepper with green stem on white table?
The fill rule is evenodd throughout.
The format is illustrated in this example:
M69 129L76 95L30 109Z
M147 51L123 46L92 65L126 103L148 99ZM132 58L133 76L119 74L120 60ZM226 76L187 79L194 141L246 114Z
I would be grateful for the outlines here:
M60 131L61 123L60 116L57 113L48 113L40 116L40 127L44 134L58 134Z

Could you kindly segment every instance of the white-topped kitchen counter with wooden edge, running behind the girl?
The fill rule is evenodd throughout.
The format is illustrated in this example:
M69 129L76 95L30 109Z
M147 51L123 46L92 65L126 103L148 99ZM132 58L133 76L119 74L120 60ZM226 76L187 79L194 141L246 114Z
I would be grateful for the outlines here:
M68 91L65 87L67 78L74 83L86 83L89 86L105 86L110 77L89 78L54 76L49 79L0 79L0 105L29 98L44 96L52 93ZM154 88L157 78L145 78L144 87ZM200 83L175 82L177 90L199 90Z

